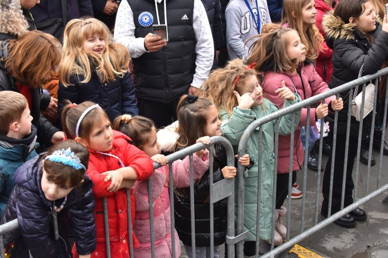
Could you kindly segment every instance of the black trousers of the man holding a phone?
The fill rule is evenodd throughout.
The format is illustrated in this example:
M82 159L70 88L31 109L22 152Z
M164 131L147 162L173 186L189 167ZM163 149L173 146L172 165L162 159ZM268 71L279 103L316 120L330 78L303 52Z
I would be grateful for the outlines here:
M154 121L156 128L167 126L177 118L178 99L169 103L137 98L139 115Z

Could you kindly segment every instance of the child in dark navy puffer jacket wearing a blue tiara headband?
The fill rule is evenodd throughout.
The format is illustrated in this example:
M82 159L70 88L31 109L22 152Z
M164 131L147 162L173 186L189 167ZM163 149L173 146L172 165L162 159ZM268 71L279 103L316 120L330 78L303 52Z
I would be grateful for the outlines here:
M90 258L96 249L96 225L93 183L85 175L88 160L81 144L66 140L16 170L16 186L1 219L1 224L17 219L18 228L4 235L12 258L29 257L29 251L32 257L70 257L68 222L80 257ZM58 219L57 240L52 214Z

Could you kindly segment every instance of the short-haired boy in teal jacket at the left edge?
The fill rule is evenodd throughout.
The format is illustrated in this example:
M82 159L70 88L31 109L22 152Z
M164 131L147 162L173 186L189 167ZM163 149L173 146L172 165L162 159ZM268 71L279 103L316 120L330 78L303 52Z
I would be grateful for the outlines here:
M35 157L36 128L27 99L15 91L0 91L0 216L15 186L14 173Z

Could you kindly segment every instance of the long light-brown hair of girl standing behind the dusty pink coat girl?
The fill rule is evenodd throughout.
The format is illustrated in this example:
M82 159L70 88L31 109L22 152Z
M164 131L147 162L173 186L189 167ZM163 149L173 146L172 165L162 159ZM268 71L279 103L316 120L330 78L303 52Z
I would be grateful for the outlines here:
M315 24L309 25L306 32L304 30L302 8L308 3L310 0L284 0L281 22L263 25L262 33L277 30L285 24L288 25L291 29L298 31L303 45L306 46L306 58L315 61L321 51L323 36Z

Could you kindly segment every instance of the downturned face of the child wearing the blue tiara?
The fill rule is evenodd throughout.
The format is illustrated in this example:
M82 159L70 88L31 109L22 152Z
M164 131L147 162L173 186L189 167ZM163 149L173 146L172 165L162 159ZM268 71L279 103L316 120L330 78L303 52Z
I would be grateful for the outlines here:
M55 201L68 195L74 187L66 185L58 185L50 180L50 177L46 170L42 168L43 175L41 181L42 191L45 194L46 199L49 201Z

